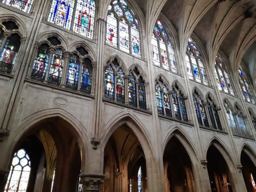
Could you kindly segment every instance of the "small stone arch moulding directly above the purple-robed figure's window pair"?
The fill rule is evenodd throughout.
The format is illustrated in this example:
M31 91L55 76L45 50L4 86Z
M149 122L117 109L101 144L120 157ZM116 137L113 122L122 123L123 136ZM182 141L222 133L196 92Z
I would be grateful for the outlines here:
M62 34L58 33L57 31L46 31L46 32L43 32L40 35L38 35L36 41L41 43L43 41L47 41L48 37L53 37L53 36L57 37L60 40L61 47L63 47L63 49L65 51L67 51L68 47L69 47L68 41L67 41L67 39Z

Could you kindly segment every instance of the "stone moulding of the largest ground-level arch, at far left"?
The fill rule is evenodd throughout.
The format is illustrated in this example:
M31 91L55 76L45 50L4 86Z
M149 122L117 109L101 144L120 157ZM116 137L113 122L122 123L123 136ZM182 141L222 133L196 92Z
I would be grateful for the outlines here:
M74 135L77 137L77 143L81 153L82 164L85 165L81 167L82 172L86 172L88 170L88 158L86 157L89 156L87 147L89 139L86 134L83 134L86 128L79 122L78 119L76 119L76 117L60 108L39 111L35 114L26 117L20 122L20 126L18 127L18 129L15 132L13 132L13 134L15 135L14 139L12 141L9 141L11 143L9 145L9 150L5 158L6 167L8 167L10 159L13 155L13 150L16 144L20 141L20 139L22 139L22 137L28 134L34 126L44 121L47 121L49 118L54 117L59 117L62 120L66 121L69 125L71 125L71 132L73 132Z

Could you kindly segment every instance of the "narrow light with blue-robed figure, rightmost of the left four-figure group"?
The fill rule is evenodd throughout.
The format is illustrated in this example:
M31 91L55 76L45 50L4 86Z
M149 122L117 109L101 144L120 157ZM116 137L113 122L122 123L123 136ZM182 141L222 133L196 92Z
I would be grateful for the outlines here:
M80 90L84 93L90 93L92 87L92 62L90 59L84 59L81 70Z

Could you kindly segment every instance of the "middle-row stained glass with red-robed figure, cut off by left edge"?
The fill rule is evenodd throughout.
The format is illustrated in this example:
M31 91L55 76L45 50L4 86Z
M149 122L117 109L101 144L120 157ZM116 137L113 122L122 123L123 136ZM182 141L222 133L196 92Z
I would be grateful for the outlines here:
M16 57L20 48L20 36L12 34L4 42L4 47L0 53L0 71L10 73L15 64Z

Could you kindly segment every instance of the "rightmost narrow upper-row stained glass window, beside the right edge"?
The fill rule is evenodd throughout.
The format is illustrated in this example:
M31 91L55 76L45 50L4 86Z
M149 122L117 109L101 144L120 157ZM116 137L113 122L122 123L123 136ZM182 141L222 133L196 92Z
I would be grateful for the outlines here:
M243 93L243 97L244 97L245 101L255 104L254 97L253 97L252 91L250 89L250 86L245 78L245 74L243 73L241 68L238 69L238 72L239 72L240 89Z

